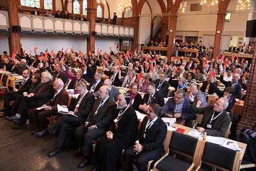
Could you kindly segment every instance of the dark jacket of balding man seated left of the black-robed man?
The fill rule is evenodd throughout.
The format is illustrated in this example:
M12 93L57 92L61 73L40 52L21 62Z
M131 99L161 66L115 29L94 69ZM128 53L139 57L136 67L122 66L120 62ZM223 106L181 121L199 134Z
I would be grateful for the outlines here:
M98 112L96 115L95 111L97 110L101 99L96 99L93 108L91 112L89 113L89 116L87 117L86 122L89 122L89 126L96 125L97 128L108 128L110 122L113 118L113 113L116 110L116 103L112 99L106 100L106 102L98 109Z

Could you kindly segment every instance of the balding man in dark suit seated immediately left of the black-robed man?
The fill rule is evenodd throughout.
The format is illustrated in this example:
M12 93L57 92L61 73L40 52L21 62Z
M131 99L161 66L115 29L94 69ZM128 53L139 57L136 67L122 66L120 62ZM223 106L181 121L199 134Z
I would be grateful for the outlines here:
M109 98L110 89L108 86L101 86L99 98L96 99L86 122L76 129L76 138L79 146L83 146L83 160L77 165L78 168L87 166L93 155L93 140L105 134L110 122L113 120L113 113L116 110L116 103ZM83 145L82 145L83 144Z

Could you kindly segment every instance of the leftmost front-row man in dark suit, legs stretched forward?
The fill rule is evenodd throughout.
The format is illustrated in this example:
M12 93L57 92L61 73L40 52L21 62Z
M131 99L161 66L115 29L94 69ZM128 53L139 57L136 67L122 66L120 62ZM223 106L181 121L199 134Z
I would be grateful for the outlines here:
M7 91L5 93L5 103L4 103L4 108L0 109L0 111L5 111L7 113L10 112L11 106L10 102L12 100L15 100L15 98L18 95L21 95L23 92L27 92L32 84L31 78L30 78L30 70L25 70L23 71L23 82L19 85L18 88L14 88L12 91Z

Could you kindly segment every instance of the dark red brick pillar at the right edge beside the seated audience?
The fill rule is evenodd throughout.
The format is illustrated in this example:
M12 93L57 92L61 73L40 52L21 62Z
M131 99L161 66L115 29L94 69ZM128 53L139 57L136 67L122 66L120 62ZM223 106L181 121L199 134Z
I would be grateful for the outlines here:
M253 47L253 58L251 60L243 116L238 124L237 130L241 130L242 128L251 128L256 123L256 42Z

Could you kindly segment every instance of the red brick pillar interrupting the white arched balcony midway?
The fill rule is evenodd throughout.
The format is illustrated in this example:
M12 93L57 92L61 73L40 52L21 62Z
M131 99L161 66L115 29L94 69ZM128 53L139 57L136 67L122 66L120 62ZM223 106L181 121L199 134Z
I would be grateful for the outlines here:
M97 2L96 0L89 0L87 5L87 18L90 21L90 36L87 39L87 51L95 51L95 36L92 32L95 31L95 21L97 17Z

